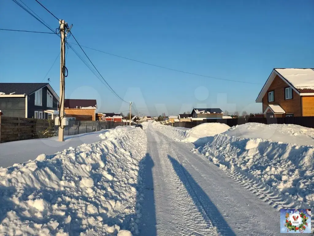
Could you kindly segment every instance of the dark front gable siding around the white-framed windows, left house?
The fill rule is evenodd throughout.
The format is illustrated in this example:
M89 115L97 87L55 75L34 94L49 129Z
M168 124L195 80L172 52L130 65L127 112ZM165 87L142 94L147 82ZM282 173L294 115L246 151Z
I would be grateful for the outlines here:
M52 95L52 107L47 107L47 91ZM42 111L43 118L48 119L48 114L44 113L44 110L58 110L58 100L53 96L53 93L48 89L48 87L42 88L42 100L41 106L35 106L35 93L28 96L28 118L35 117L35 111ZM24 102L25 103L25 102ZM25 114L24 114L25 117Z

